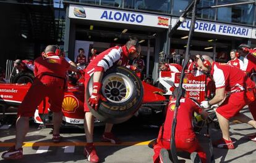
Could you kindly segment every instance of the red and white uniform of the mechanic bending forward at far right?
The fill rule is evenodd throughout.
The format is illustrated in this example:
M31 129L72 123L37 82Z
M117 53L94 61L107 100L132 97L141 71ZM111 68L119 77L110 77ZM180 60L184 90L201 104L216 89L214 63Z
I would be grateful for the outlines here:
M226 119L236 116L239 111L251 101L246 97L247 88L255 89L255 83L241 70L226 63L213 62L210 74L215 81L216 89L225 88L229 97L216 109L216 112ZM256 109L250 108L252 115L256 116Z

